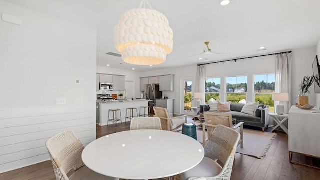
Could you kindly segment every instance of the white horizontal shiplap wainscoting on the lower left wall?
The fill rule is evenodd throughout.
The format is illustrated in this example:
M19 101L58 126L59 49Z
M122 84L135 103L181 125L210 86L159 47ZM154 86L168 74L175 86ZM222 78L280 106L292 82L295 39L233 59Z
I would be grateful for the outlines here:
M83 145L96 138L94 104L0 110L0 173L50 159L45 141L72 129Z

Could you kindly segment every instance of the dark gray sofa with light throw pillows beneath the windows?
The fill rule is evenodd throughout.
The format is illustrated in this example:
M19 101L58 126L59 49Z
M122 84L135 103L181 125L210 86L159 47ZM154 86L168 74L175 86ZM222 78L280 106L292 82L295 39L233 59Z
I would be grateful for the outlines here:
M242 113L242 107L244 104L239 103L231 103L230 110L231 111L217 111L210 110L209 105L200 105L199 113L203 113L203 111L209 112L218 112L218 113L228 113L232 115L232 118L236 118L237 122L244 122L244 125L260 127L264 132L264 128L268 128L269 125L269 106L264 104L259 104L258 109L255 110L254 115Z

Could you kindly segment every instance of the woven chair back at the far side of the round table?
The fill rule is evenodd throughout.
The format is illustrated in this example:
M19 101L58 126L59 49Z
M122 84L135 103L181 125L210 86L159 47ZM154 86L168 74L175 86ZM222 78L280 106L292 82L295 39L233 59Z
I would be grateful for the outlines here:
M131 119L130 130L155 129L162 130L159 117L134 117Z

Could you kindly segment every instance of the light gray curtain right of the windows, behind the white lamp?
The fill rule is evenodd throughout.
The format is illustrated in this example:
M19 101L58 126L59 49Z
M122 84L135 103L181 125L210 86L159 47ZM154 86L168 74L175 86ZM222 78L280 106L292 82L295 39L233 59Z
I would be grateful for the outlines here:
M288 114L291 104L291 53L276 54L275 93L289 93L289 101L282 102L284 113ZM274 102L274 107L278 102Z

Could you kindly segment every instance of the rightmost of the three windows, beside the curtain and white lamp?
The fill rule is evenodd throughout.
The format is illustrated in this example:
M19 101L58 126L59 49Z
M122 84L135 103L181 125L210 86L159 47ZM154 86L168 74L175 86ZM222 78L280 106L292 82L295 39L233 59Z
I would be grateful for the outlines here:
M275 74L259 74L254 75L254 96L255 101L259 101L265 105L269 105L269 111L274 111L274 101L272 101L272 93L274 93Z

